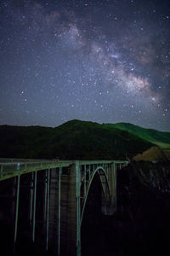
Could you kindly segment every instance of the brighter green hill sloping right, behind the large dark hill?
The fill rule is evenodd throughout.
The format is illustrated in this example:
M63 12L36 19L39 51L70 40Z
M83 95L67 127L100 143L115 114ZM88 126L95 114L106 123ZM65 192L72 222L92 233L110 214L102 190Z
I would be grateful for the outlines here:
M132 125L128 123L106 124L106 126L131 132L133 135L143 138L150 143L154 143L160 148L170 148L170 132L145 129L138 125Z

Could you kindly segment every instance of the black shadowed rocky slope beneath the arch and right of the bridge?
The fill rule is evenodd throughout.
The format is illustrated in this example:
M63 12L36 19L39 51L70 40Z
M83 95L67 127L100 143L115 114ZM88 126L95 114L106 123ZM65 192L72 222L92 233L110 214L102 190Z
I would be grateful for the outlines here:
M97 211L99 201L95 203ZM119 171L114 216L99 213L96 218L97 214L91 212L92 206L93 203L90 206L88 202L88 217L82 226L83 256L169 254L169 161L155 165L133 163Z

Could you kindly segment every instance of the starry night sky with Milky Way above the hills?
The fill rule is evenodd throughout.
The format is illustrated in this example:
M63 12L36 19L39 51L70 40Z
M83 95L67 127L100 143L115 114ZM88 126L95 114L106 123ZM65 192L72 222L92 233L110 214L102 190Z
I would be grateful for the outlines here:
M169 0L0 1L0 124L170 131Z

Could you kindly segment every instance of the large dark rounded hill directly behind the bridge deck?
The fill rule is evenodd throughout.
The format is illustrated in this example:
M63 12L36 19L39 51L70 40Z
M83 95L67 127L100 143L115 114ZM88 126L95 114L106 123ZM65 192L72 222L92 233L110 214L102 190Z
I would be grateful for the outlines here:
M71 120L55 128L0 125L0 157L61 160L125 159L153 146L114 125Z

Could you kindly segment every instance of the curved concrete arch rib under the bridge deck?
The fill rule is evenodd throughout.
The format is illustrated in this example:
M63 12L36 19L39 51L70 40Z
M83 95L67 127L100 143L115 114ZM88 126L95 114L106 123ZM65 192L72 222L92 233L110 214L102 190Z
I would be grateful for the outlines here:
M107 174L105 172L105 168L102 167L102 166L98 166L94 170L94 172L92 173L92 175L91 175L91 177L88 181L88 188L87 188L87 191L86 191L86 195L85 195L85 197L83 198L83 201L82 201L82 212L81 212L81 222L80 222L81 225L82 225L82 218L83 218L84 210L85 210L86 203L87 203L87 200L88 200L89 190L90 190L91 185L94 181L95 175L99 175L103 195L105 196L106 200L111 201L111 191L110 191L110 187L109 187L108 177L107 177Z

